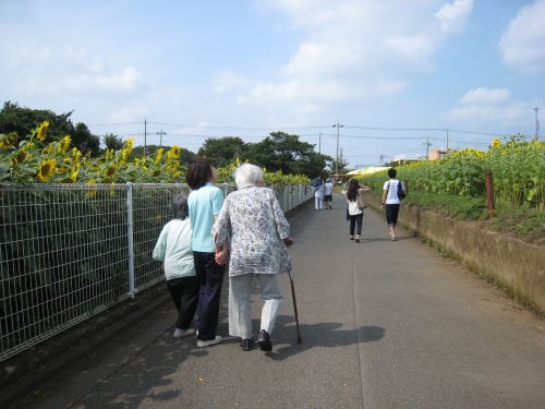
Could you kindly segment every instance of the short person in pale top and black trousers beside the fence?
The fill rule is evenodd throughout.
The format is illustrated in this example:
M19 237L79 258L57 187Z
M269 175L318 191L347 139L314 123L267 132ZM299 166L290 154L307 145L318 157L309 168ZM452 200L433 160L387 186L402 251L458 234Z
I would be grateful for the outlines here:
M165 262L167 286L178 310L172 336L182 338L195 334L190 324L198 303L199 284L193 262L191 221L184 193L174 197L173 210L174 218L162 228L152 257Z

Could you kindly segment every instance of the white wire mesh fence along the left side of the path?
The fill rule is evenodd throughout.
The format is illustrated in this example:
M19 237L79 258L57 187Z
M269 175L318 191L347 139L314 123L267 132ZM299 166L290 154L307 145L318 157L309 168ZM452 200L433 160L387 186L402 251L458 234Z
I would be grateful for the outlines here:
M219 185L225 194L234 185ZM0 185L0 361L164 280L152 252L185 184ZM312 196L277 189L288 212Z

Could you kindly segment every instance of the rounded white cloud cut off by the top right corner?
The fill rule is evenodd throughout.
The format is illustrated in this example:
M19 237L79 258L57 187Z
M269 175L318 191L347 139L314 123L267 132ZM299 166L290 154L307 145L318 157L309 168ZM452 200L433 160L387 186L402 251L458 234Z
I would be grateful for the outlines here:
M499 41L504 62L523 72L545 71L545 0L523 7Z

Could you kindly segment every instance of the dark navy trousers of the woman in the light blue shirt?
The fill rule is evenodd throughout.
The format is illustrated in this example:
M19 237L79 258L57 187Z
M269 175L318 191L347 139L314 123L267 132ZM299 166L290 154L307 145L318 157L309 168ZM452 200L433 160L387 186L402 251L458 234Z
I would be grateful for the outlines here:
M218 330L219 296L225 267L216 263L214 256L214 253L193 252L199 284L197 338L201 340L216 338Z

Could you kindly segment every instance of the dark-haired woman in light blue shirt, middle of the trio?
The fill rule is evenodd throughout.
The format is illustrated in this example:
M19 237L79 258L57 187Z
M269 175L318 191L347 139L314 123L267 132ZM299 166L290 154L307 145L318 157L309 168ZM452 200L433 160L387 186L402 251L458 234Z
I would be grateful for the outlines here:
M192 189L187 200L193 227L193 258L199 282L197 348L221 342L216 334L219 297L225 266L216 263L216 243L211 227L223 204L223 193L214 185L216 172L206 158L196 158L190 166L186 182Z

